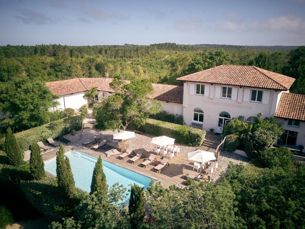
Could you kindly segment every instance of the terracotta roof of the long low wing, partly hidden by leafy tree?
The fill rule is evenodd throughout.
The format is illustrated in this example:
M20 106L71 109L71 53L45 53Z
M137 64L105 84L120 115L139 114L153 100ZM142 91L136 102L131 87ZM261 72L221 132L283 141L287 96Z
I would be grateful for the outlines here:
M113 93L114 90L109 87L109 83L112 82L112 80L112 78L78 78L48 82L46 83L46 86L48 86L54 94L58 95L87 91L91 87L98 87L99 91ZM159 83L152 83L152 86L155 89L152 98L182 104L183 87Z

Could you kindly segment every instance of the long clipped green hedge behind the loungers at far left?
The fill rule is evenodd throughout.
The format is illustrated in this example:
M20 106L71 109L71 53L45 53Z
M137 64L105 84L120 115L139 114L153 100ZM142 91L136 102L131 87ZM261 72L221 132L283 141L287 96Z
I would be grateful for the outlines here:
M65 135L71 130L80 130L83 119L81 116L71 116L56 120L39 127L34 127L15 134L17 142L23 150L28 150L32 142L46 142L47 138L57 138L59 135ZM0 147L3 149L5 138L0 139Z

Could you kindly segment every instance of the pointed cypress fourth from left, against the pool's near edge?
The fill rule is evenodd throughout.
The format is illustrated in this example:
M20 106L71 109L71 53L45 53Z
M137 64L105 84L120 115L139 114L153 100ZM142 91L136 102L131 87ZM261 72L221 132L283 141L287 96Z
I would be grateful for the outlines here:
M103 171L101 155L95 162L93 170L90 194L97 192L98 194L107 193L106 175Z

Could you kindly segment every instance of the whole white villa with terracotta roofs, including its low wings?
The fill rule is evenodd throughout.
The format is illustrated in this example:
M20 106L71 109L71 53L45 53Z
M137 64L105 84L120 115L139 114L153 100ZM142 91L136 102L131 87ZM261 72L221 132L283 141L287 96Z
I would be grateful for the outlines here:
M220 65L177 79L183 87L152 83L152 98L169 113L181 114L186 125L222 133L232 118L244 116L253 122L258 113L284 122L278 145L305 144L305 95L289 93L294 78L255 66ZM111 78L77 78L48 82L60 96L58 109L77 109L87 101L84 93L97 87L99 98L114 91Z

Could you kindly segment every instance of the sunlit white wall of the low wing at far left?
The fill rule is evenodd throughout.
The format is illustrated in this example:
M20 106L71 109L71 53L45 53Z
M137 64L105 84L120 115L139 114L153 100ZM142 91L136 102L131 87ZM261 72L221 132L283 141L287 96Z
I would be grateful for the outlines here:
M82 105L87 104L87 100L83 98L84 92L62 95L57 100L60 104L57 109L78 109Z

